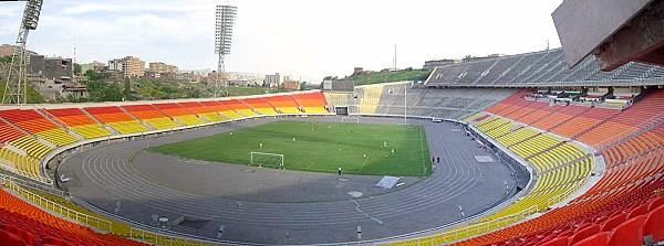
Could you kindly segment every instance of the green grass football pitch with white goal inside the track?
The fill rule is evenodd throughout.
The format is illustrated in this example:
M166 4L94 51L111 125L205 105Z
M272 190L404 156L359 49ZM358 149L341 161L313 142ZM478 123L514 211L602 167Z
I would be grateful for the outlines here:
M313 172L335 173L341 167L352 174L424 177L432 170L426 135L419 125L277 121L151 150L238 164L251 164L252 151L279 153L283 154L284 169ZM279 168L281 158L256 154L253 164L257 162Z

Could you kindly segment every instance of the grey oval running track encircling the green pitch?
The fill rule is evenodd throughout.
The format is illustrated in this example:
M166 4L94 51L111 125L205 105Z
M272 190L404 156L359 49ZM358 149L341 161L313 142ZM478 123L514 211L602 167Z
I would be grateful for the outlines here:
M103 210L113 212L121 201L120 215L134 221L149 224L153 214L170 220L185 216L190 224L172 229L216 238L217 229L224 225L222 239L253 244L353 242L357 225L362 226L362 239L403 235L459 221L459 205L469 216L513 195L513 192L505 194L504 182L509 186L515 184L505 164L476 162L474 156L488 153L477 148L463 131L453 130L458 126L427 120L411 122L425 126L429 151L440 156L443 164L434 169L432 177L405 189L361 199L314 203L239 202L163 185L141 173L129 161L148 145L181 141L271 120L240 121L148 142L127 141L93 148L70 157L59 171L73 178L66 183L72 195ZM362 122L367 121L401 122L401 119L362 119ZM178 185L187 186L187 182Z

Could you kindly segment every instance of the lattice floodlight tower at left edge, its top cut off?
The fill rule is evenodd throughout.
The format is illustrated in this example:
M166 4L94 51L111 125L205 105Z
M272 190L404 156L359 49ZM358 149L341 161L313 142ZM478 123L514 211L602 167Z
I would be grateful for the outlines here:
M30 30L37 29L39 14L41 13L43 0L28 0L23 19L19 28L19 36L11 55L11 65L7 75L4 93L2 94L2 104L27 104L28 99L28 52L25 43Z

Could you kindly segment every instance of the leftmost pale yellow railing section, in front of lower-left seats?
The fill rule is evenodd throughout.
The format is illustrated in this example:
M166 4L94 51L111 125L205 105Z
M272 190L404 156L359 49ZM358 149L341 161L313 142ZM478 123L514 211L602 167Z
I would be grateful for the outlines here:
M111 221L74 211L66 206L54 203L51 200L48 200L38 194L34 194L34 193L30 192L28 189L24 189L21 185L15 184L14 182L11 182L9 180L3 180L3 181L4 181L4 186L7 186L10 190L13 190L17 194L21 195L23 199L25 199L30 202L33 202L34 204L39 205L40 207L55 212L62 216L71 218L81 224L90 225L90 226L93 226L93 227L96 227L100 229L104 229L106 232L112 232L112 229L113 229L113 223L111 223Z

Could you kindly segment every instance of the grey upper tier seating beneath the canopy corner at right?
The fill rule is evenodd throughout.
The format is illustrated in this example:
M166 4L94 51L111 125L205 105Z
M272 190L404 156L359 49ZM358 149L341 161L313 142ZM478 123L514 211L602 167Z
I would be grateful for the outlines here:
M427 86L473 85L593 85L598 82L636 85L644 78L663 78L664 69L642 63L627 63L613 72L600 71L594 56L569 68L562 49L489 57L436 67Z

